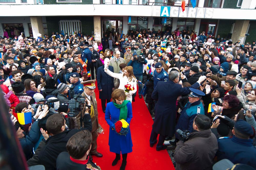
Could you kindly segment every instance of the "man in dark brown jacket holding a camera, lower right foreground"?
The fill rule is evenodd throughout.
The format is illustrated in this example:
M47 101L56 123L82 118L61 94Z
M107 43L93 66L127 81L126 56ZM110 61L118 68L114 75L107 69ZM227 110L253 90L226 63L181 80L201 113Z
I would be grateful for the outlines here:
M218 142L210 127L209 117L196 115L193 121L193 129L196 131L186 136L186 141L179 141L174 151L176 170L212 168Z

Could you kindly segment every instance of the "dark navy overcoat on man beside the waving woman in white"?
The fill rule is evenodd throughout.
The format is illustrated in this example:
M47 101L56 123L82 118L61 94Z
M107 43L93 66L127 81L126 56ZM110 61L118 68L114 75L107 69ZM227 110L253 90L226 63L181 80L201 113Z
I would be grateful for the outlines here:
M114 68L109 66L109 70L114 72ZM112 88L114 88L114 78L108 75L104 71L104 66L98 68L97 71L97 82L98 82L98 89L99 91L99 98L100 99L111 99Z

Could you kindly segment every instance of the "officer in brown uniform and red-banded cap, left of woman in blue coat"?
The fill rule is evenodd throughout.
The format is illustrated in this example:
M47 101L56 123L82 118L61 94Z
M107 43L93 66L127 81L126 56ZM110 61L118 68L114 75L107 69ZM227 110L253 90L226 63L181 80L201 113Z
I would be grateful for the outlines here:
M95 155L97 157L102 157L102 154L97 152L97 137L98 137L98 127L99 127L99 120L98 120L98 109L97 109L97 100L95 98L94 89L96 80L88 80L83 82L84 84L84 92L82 93L82 96L85 98L88 98L91 101L91 109L89 110L89 113L91 115L91 121L92 121L92 148L90 151L91 155ZM78 116L77 116L78 120ZM79 121L77 121L77 124ZM79 124L80 127L80 124Z

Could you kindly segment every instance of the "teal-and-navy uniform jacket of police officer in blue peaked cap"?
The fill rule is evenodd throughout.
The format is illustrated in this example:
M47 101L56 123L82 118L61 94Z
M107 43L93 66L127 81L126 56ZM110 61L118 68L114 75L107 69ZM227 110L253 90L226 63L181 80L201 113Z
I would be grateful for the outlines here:
M193 132L193 122L197 114L205 114L205 109L201 101L198 100L194 103L187 102L187 104L185 105L184 109L180 114L175 131L177 129L180 129L189 130L190 132ZM176 138L179 138L179 135L175 134L175 136Z

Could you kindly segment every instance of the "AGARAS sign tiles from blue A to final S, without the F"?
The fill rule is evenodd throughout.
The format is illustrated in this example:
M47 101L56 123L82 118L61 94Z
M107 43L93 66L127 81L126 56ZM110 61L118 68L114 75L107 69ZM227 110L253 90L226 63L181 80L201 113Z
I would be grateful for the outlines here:
M161 6L160 17L179 17L179 18L212 18L213 8L193 8L186 7L182 12L181 7Z

